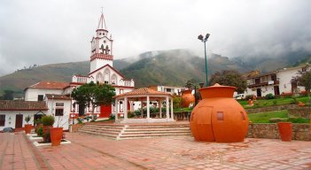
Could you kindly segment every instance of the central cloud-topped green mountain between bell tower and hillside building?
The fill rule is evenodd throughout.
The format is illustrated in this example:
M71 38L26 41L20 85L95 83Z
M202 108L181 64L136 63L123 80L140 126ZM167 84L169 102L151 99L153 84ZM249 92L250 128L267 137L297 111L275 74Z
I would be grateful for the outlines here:
M183 86L188 80L205 81L205 59L189 50L165 50L141 58L121 69L127 78L135 79L136 87L149 85ZM222 70L246 71L229 58L215 55L208 58L208 74Z

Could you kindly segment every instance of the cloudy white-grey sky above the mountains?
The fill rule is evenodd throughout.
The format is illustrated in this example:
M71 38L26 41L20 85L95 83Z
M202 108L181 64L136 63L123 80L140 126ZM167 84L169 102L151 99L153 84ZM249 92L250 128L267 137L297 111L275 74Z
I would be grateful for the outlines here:
M1 0L0 75L89 59L101 7L114 58L189 49L227 57L311 52L310 0Z

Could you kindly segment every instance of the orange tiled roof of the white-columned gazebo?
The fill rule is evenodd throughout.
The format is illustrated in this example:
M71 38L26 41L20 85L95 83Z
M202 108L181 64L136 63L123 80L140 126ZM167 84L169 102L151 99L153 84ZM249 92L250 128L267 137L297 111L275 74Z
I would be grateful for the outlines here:
M129 91L127 93L123 93L121 95L115 96L113 98L119 98L119 97L135 97L135 96L167 96L172 97L169 93L156 91L154 89L149 88L141 88L141 89L135 89L133 91Z

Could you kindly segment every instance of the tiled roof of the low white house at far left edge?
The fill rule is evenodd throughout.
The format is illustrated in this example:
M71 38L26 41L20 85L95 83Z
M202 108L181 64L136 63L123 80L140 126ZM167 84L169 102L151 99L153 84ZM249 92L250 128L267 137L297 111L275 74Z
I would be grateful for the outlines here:
M47 111L45 102L0 100L0 111Z

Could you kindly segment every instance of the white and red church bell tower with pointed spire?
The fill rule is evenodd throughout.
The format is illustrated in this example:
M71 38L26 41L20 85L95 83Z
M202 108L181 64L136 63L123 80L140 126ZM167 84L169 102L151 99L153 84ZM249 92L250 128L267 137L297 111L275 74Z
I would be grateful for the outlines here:
M113 66L113 37L106 29L103 12L98 22L96 36L92 38L90 44L90 73L105 65Z

